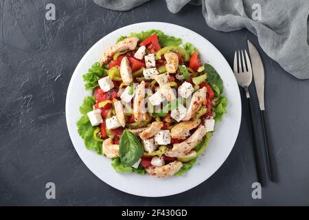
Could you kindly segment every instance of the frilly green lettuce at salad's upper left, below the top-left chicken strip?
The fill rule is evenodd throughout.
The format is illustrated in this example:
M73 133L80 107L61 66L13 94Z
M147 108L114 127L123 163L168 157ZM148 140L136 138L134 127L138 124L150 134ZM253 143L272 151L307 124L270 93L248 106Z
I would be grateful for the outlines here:
M98 80L100 78L106 76L107 69L104 69L104 67L101 67L100 63L94 63L92 67L88 70L87 74L84 74L82 78L84 79L85 85L84 87L87 90L94 89L95 87L98 87Z

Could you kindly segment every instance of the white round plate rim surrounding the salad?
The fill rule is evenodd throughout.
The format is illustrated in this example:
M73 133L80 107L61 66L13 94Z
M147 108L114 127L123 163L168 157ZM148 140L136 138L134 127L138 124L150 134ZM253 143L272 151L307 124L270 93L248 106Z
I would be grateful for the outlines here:
M180 37L183 43L191 42L201 52L203 63L211 64L218 74L220 74L225 87L225 96L229 100L227 114L224 115L222 122L216 124L216 131L211 137L207 151L198 159L198 162L185 175L179 177L167 177L157 179L150 175L137 175L135 173L116 173L111 166L111 159L97 155L95 152L88 151L84 146L82 138L78 135L76 122L80 118L79 107L84 97L91 95L84 89L82 75L95 62L100 60L100 56L107 47L113 45L119 36L128 35L131 32L141 32L150 29L158 29L165 34ZM67 127L73 145L86 166L106 184L128 192L133 195L144 197L164 197L175 195L186 190L190 190L198 184L203 183L211 177L218 168L225 162L231 153L236 142L241 120L241 100L240 92L233 75L231 67L222 54L203 36L183 28L179 25L170 23L147 22L128 25L124 28L115 30L111 34L104 36L98 43L84 55L69 83L65 113Z

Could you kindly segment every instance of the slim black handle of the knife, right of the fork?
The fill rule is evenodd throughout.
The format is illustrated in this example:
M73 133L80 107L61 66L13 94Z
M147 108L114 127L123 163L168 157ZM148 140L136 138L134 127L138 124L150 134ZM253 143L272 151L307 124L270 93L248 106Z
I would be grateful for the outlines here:
M262 118L262 126L263 126L263 133L264 133L264 143L265 143L265 152L266 152L266 161L267 161L267 168L268 168L268 175L269 179L271 181L275 181L275 169L273 166L273 154L271 153L271 149L269 148L268 144L268 134L267 134L267 128L265 124L265 116L264 111L261 111L261 118Z

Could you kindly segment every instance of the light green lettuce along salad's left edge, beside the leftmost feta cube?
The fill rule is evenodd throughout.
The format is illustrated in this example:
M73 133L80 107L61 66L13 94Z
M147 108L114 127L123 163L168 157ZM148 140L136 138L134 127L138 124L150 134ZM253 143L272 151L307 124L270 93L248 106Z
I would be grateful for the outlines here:
M84 145L88 150L96 151L98 154L102 155L102 143L93 138L93 132L96 127L91 125L87 116L87 113L92 110L93 104L95 104L95 98L93 96L84 98L82 106L80 107L82 117L77 122L78 134L84 140Z

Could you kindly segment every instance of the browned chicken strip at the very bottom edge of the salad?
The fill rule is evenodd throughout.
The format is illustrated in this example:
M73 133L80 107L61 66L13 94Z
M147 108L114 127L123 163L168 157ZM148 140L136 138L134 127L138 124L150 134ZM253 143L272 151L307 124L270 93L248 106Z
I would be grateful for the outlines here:
M160 167L148 166L145 169L150 175L154 177L163 178L163 177L170 177L174 175L178 170L180 170L181 166L183 166L183 163L176 160L164 166L160 166Z

